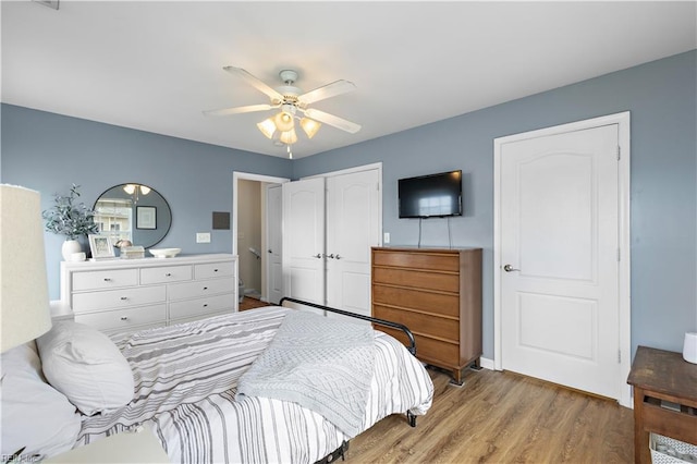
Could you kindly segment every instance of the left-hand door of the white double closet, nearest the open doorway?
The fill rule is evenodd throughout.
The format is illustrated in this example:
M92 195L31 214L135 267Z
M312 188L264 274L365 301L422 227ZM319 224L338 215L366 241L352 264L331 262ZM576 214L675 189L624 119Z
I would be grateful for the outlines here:
M325 304L325 179L286 182L283 188L285 296Z

